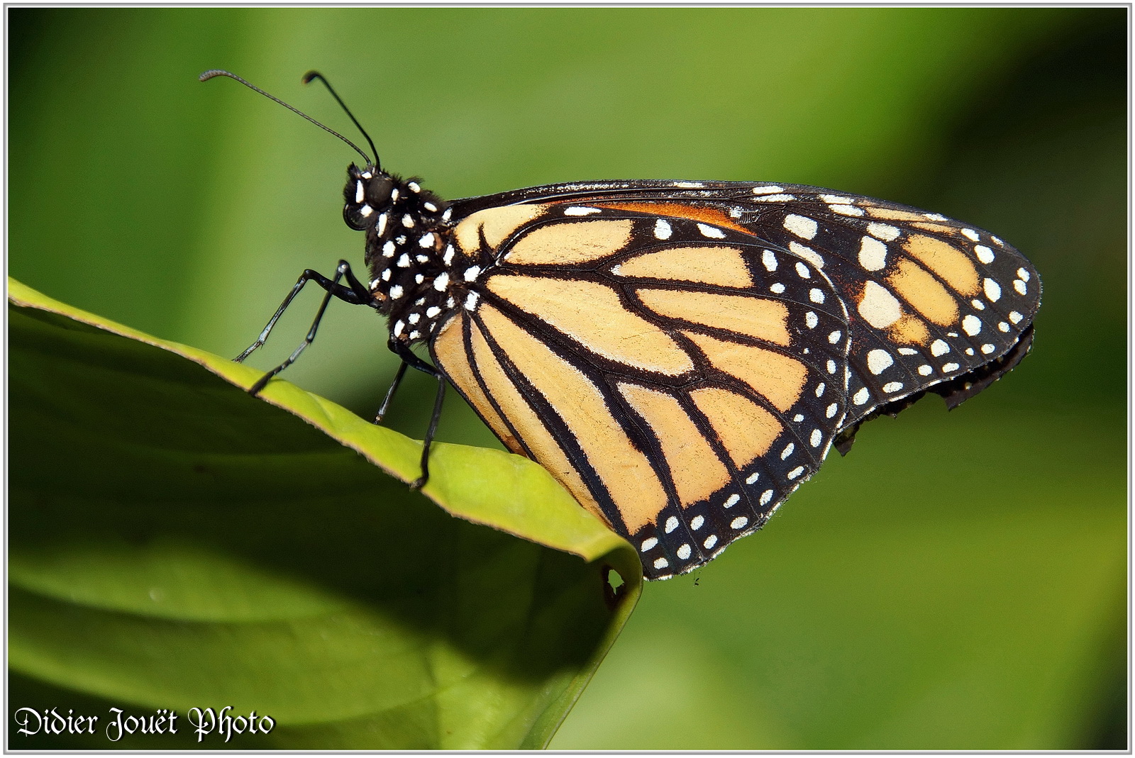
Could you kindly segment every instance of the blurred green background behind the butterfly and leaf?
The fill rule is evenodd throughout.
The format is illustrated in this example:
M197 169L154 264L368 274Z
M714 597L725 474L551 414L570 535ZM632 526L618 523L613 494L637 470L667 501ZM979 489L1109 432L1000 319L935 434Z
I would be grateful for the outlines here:
M235 355L361 262L354 153L446 197L599 178L814 184L972 221L1041 271L1032 355L865 427L759 534L651 584L557 749L1127 744L1127 9L9 9L9 272ZM257 361L286 355L305 297ZM372 413L338 304L287 378ZM411 377L390 423L424 429ZM499 446L451 397L439 437Z

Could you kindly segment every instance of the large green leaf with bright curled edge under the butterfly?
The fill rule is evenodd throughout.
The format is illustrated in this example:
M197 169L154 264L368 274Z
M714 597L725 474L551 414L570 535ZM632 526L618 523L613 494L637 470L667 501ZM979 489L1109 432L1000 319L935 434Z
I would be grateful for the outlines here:
M251 397L259 371L12 280L9 301L12 708L100 717L10 747L547 743L641 568L546 471L437 444L412 492L418 441L286 381ZM225 706L276 726L197 744L188 709ZM180 728L111 742L111 707Z

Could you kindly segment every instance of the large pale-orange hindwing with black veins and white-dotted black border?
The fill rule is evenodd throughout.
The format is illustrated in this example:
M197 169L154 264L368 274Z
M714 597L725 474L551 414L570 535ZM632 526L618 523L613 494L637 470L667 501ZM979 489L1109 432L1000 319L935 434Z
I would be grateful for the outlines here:
M434 344L502 439L655 579L764 523L847 411L831 280L705 219L566 203L471 216L462 252L495 264Z

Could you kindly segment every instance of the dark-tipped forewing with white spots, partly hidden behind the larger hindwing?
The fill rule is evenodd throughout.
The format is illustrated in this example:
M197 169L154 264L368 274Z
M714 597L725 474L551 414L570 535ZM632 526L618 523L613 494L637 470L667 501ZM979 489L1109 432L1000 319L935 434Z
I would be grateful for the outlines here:
M848 306L847 428L926 389L952 407L1032 344L1041 296L1033 264L995 235L939 213L818 187L734 182L560 184L461 202L477 209L533 200L700 220L822 268ZM791 276L788 268L780 276Z

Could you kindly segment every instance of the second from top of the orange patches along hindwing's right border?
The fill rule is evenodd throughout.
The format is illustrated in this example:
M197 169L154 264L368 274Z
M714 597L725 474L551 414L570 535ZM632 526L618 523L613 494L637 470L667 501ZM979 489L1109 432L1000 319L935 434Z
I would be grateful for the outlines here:
M776 345L789 344L788 305L779 300L647 287L636 293L659 315L735 331Z

